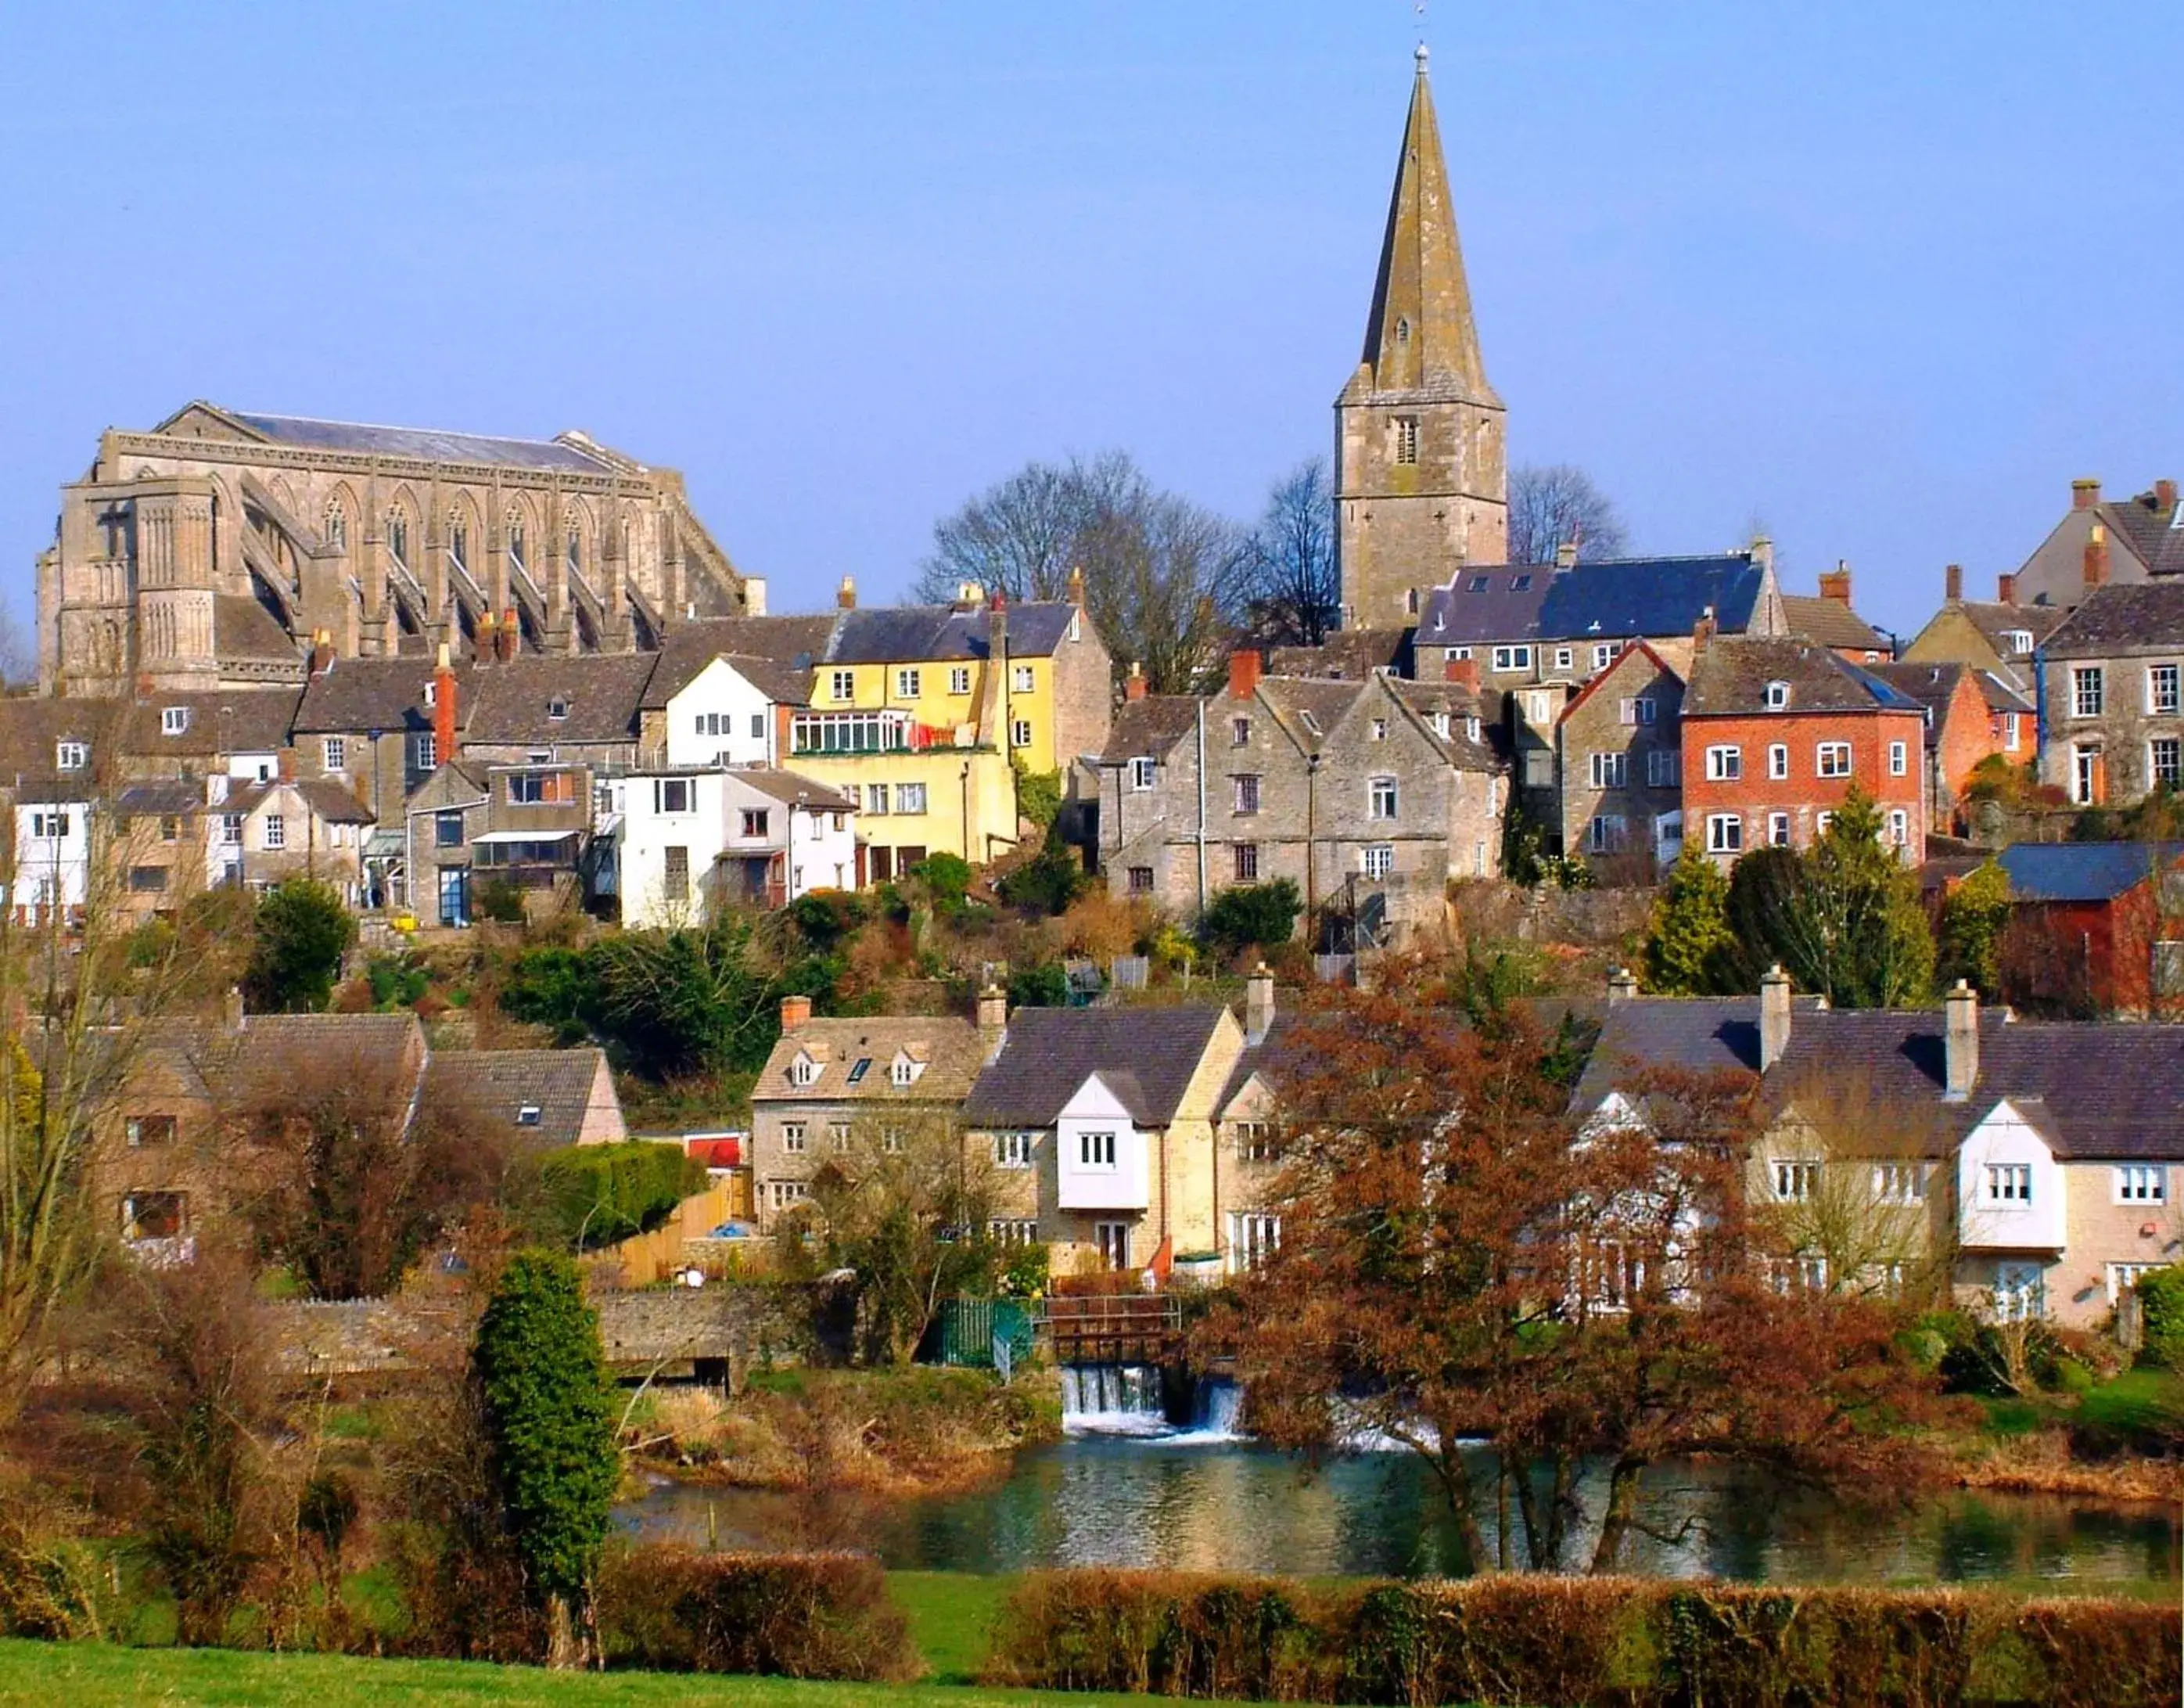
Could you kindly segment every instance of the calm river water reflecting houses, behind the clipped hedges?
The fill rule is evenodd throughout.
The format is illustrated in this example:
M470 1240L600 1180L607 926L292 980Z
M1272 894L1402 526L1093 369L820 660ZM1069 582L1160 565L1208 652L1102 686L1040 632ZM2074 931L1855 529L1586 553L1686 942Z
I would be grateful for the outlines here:
M1566 1566L1590 1559L1594 1522ZM1492 1476L1487 1542L1494 1544ZM708 1518L710 1509L710 1518ZM666 1485L622 1509L625 1527L721 1546L786 1546L778 1496ZM2177 1579L2173 1507L1985 1492L1845 1503L1710 1463L1647 1474L1623 1568L1749 1581ZM1245 1442L1075 1437L1016 1457L976 1494L882 1507L858 1542L889 1566L1011 1573L1033 1566L1162 1566L1302 1575L1459 1575L1463 1551L1431 1472L1413 1455L1343 1459L1306 1476ZM1520 1538L1522 1544L1522 1538ZM1522 1557L1522 1546L1518 1549Z

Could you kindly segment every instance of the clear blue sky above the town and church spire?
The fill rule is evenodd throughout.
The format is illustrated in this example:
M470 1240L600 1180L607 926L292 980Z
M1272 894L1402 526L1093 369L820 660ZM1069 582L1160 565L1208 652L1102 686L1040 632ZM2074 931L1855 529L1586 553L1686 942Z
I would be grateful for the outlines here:
M1518 461L1638 546L1760 518L1913 629L2099 474L2184 472L2184 7L1424 20ZM1332 435L1409 0L24 4L0 550L190 398L681 467L775 609L1120 446L1249 513Z

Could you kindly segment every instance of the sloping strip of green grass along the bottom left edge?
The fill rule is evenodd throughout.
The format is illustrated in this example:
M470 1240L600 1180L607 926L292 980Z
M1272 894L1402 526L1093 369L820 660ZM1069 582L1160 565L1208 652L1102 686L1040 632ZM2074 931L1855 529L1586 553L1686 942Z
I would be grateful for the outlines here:
M1051 1701L1123 1708L1144 1697L1059 1695L1051 1691L968 1691L950 1684L795 1684L780 1677L701 1677L690 1673L546 1673L533 1667L483 1667L461 1660L356 1660L352 1656L266 1656L236 1649L118 1649L105 1642L20 1642L0 1638L0 1704L234 1704L236 1708L380 1708L380 1704L489 1701L507 1708L585 1708L587 1704L749 1704L751 1708L981 1708Z

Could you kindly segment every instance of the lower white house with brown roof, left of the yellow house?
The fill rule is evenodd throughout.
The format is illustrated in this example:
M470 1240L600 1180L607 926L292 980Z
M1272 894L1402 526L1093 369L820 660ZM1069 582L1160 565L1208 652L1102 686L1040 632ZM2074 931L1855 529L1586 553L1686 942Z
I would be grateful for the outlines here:
M622 924L699 924L856 889L856 804L795 771L725 764L638 771L616 826Z

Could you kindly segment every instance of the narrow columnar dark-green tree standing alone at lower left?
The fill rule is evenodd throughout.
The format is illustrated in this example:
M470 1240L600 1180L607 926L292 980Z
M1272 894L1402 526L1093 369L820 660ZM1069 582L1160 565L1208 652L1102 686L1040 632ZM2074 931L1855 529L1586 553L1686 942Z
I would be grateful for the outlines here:
M572 1614L590 1612L622 1474L598 1315L583 1302L577 1265L518 1252L478 1321L472 1367L502 1522L548 1614L548 1660L568 1664Z

